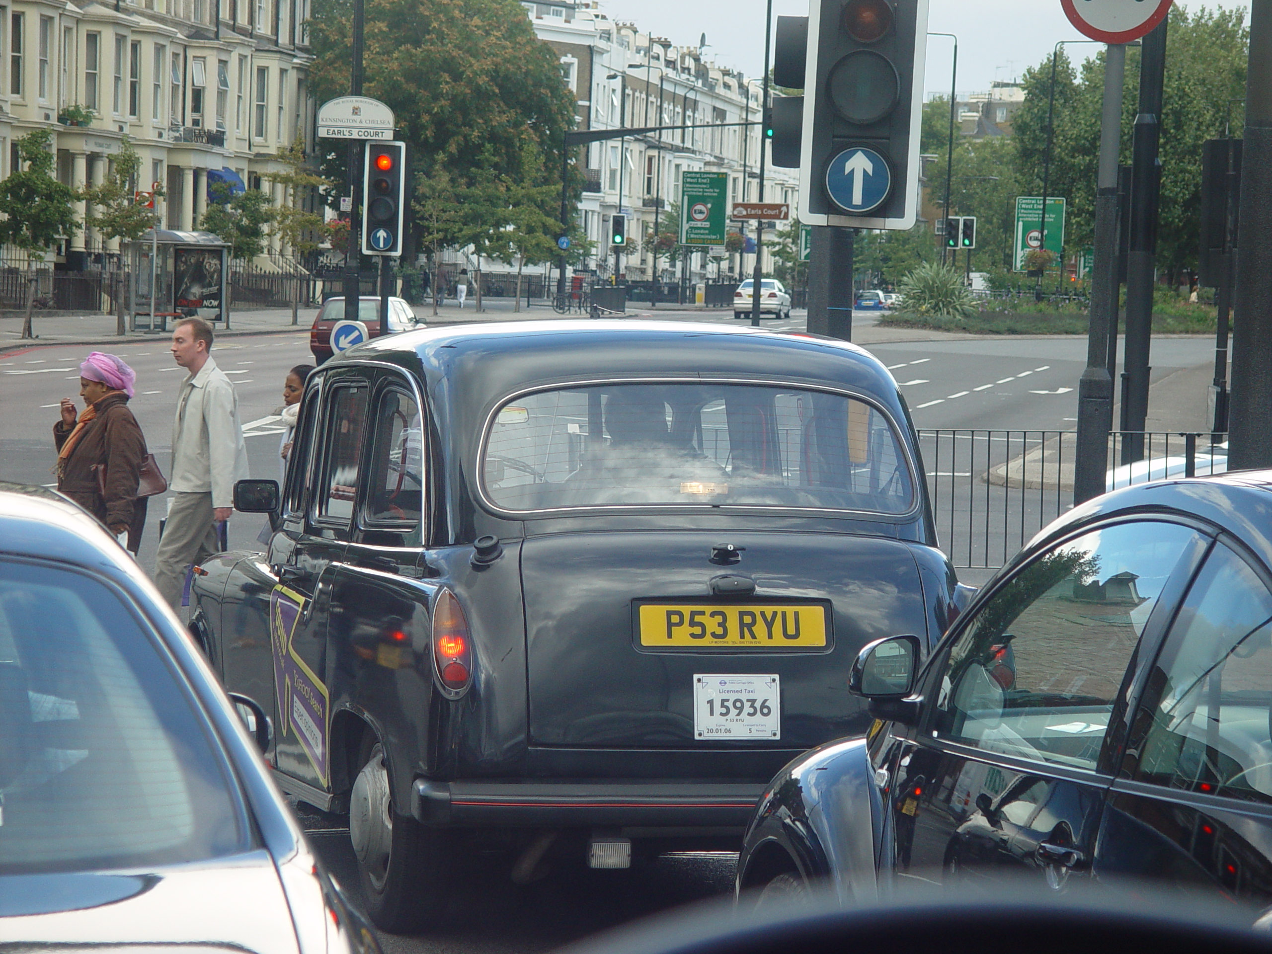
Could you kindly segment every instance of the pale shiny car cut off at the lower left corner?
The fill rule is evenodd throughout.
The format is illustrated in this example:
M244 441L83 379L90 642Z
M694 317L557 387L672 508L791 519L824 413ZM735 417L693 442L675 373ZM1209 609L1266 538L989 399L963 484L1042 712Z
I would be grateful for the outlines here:
M0 483L0 948L378 954L234 701L106 528Z

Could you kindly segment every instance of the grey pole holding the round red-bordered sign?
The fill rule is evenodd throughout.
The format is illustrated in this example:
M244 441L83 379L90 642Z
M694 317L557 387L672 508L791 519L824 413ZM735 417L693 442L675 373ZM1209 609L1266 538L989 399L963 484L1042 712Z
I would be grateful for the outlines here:
M1104 492L1108 435L1113 427L1113 377L1107 365L1109 336L1117 335L1117 159L1122 142L1122 84L1126 47L1109 43L1104 53L1104 112L1095 192L1095 261L1091 268L1086 370L1077 384L1077 454L1074 506Z

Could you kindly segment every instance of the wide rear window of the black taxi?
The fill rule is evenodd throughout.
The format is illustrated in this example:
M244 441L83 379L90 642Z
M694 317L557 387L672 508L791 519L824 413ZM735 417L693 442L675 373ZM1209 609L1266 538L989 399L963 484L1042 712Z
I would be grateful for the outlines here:
M888 420L843 394L753 384L611 384L527 394L485 445L508 510L780 506L904 514L915 482Z

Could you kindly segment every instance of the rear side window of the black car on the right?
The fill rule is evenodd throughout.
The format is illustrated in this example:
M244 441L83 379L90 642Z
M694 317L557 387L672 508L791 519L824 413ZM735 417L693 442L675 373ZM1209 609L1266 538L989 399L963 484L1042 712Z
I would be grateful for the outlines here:
M1136 777L1272 803L1272 593L1227 547L1198 574L1152 677Z

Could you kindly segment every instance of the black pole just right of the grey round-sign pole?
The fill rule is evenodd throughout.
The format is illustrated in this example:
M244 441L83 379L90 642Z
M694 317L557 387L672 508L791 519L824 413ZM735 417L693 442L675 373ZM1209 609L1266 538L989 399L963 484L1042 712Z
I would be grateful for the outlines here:
M1166 23L1144 38L1140 57L1140 114L1135 117L1131 160L1131 247L1126 263L1126 352L1122 375L1122 430L1142 434L1149 417L1149 349L1156 272L1158 193L1161 167L1161 93L1166 69ZM1144 439L1122 441L1123 464L1144 459Z

